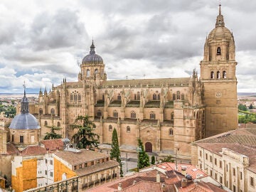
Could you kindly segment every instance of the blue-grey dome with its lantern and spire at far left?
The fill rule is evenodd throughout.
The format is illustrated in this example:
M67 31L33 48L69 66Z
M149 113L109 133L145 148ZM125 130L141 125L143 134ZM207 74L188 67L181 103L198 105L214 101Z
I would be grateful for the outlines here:
M21 100L21 114L12 119L10 129L40 129L38 120L28 112L28 98L24 87L24 97Z

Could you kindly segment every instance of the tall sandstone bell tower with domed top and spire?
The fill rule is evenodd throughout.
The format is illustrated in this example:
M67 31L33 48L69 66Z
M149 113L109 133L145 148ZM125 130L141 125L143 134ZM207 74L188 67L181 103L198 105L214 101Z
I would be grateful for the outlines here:
M206 137L236 129L235 41L233 33L225 28L220 6L215 28L206 38L200 65L206 105Z

